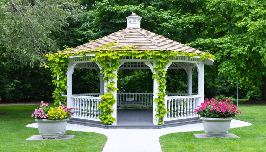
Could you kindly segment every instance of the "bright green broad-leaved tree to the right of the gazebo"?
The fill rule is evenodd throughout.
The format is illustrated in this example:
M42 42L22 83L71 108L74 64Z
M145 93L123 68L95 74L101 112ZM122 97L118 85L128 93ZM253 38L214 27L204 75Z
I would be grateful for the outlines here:
M218 63L219 77L230 83L235 83L237 77L240 83L248 81L245 85L250 89L259 87L265 100L265 3L216 0L207 3L207 9L212 12L210 24L214 25L215 36L206 35L189 45L211 50ZM221 23L224 28L215 25L219 20L224 20Z

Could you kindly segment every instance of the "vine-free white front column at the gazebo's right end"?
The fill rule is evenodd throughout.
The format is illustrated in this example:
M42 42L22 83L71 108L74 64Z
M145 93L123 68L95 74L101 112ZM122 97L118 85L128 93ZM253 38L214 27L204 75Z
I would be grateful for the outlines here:
M201 59L202 61L202 59ZM199 104L204 101L204 64L201 62L198 67L198 94L201 95Z

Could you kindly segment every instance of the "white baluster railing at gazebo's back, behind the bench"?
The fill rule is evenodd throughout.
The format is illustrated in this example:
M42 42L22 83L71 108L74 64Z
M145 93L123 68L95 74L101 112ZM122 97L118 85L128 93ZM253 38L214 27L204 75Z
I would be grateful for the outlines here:
M122 106L129 98L141 101L141 106L153 106L153 93L117 93L117 106Z

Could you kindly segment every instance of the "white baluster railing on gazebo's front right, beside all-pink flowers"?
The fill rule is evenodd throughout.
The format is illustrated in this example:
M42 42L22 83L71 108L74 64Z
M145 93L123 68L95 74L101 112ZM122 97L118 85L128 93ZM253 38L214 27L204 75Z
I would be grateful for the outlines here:
M201 96L167 96L166 108L168 113L165 116L165 121L184 119L189 117L198 117L195 113L195 108L199 105Z

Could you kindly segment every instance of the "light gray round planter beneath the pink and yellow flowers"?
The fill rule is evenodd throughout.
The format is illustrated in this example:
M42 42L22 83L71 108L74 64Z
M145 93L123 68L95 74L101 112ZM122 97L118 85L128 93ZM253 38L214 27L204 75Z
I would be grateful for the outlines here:
M59 139L62 138L67 129L67 121L63 120L48 120L48 119L35 119L37 121L40 135L44 139Z

